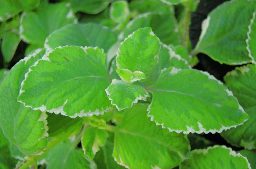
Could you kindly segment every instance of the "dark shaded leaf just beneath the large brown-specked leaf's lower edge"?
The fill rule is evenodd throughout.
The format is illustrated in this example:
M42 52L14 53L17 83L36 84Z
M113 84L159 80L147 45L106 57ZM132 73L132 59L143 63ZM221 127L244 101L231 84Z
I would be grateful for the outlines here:
M49 137L57 137L59 139L70 138L73 135L78 134L82 128L82 118L71 119L67 116L50 113L47 115Z

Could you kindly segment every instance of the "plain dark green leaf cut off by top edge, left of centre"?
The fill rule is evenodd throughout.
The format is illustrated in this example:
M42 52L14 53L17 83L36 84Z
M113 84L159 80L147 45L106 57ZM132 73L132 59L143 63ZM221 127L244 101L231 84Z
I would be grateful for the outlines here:
M67 0L71 3L74 11L89 14L97 14L103 11L113 0Z

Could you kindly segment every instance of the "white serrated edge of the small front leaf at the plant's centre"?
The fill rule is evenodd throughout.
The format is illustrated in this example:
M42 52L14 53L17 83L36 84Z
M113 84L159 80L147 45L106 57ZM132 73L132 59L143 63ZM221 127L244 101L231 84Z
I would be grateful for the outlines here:
M114 83L116 83L118 80L117 79L112 79L112 81L111 81L111 84L114 84ZM110 85L111 85L110 84ZM110 86L109 85L109 86ZM106 94L107 94L107 96L108 96L108 99L111 101L111 105L112 106L116 106L116 109L118 110L118 111L121 111L121 110L124 110L124 109L126 109L126 108L131 108L132 106L133 106L133 104L136 104L136 103L138 103L138 101L139 100L146 100L148 97L150 97L150 95L148 94L148 92L146 91L146 95L144 95L144 96L142 96L142 95L139 95L138 97L136 97L136 99L131 103L131 105L130 106L126 106L125 108L119 108L118 107L118 105L116 105L116 104L114 104L113 103L113 100L111 99L111 97L109 97L111 94L109 93L109 91L108 91L108 89L109 89L109 86L105 89L105 92L106 92Z

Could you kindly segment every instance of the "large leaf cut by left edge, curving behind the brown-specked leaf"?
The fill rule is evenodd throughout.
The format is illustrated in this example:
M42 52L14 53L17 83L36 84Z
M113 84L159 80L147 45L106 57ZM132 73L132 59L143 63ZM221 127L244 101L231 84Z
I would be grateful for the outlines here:
M16 98L28 68L44 53L40 49L20 60L0 85L0 125L8 140L28 155L41 153L47 144L47 115L25 108Z

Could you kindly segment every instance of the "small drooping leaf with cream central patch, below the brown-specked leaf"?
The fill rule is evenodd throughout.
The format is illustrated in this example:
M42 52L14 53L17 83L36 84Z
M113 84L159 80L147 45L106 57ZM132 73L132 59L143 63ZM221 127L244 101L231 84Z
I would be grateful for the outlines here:
M100 150L100 147L105 145L107 138L108 132L106 130L88 127L81 138L84 155L93 159L96 152Z

